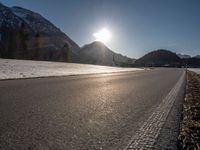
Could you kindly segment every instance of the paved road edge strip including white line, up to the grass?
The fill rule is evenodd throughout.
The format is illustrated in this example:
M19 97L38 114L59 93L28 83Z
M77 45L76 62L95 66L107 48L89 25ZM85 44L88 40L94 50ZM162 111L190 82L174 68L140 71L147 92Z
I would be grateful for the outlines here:
M177 143L181 118L179 114L181 114L184 89L185 73L181 75L178 82L171 89L168 95L162 100L148 120L144 122L141 128L135 133L125 150L168 149L169 144L174 145L174 143ZM178 103L176 104L176 102ZM177 116L174 114L177 114ZM171 132L170 137L164 137L169 135L168 132ZM172 137L175 138L172 139ZM176 144L174 147L176 147Z

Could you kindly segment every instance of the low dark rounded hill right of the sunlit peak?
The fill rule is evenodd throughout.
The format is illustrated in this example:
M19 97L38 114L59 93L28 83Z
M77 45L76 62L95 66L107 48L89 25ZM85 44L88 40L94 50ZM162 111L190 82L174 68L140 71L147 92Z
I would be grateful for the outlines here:
M134 66L176 67L182 64L181 58L169 50L159 49L137 59Z

